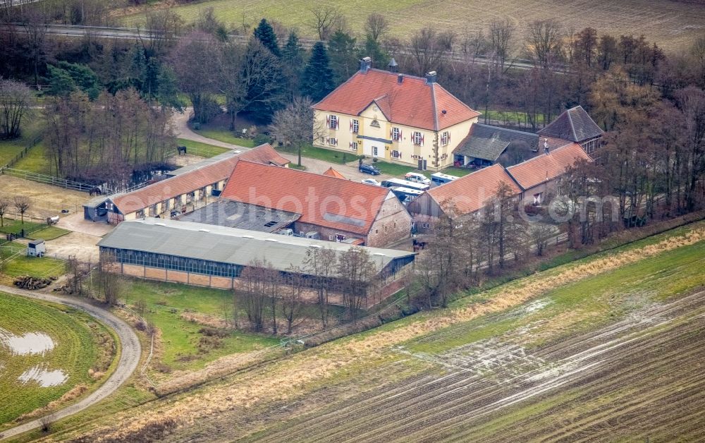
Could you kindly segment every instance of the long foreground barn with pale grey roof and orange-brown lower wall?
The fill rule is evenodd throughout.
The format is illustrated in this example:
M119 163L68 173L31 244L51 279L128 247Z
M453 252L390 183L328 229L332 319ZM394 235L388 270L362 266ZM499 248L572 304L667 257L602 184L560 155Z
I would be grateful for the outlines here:
M304 277L319 277L307 270L310 250L328 248L341 254L351 247L312 238L160 219L123 222L98 246L102 256L114 260L118 273L219 289L238 287L243 269L263 258L279 272L299 267ZM415 253L408 251L362 248L374 260L382 292L414 262Z

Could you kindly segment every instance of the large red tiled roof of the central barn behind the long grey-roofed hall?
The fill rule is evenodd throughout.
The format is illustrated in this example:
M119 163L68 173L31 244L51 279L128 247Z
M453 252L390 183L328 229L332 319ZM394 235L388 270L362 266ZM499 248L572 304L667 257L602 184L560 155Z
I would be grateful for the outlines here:
M301 214L298 221L302 223L367 235L390 194L390 190L379 186L296 169L238 162L221 196Z

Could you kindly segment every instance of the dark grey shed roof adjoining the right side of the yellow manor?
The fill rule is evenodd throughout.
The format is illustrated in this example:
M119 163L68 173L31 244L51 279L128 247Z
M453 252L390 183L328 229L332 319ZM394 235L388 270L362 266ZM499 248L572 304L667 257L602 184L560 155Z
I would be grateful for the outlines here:
M454 154L495 162L510 143L525 143L530 150L539 146L539 135L472 123L470 133L453 150Z

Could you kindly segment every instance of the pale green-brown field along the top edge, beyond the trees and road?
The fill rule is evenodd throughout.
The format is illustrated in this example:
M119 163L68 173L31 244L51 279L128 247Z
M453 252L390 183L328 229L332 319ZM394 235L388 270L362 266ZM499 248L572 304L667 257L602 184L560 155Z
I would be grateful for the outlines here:
M162 4L154 2L151 7L161 7ZM390 34L396 37L408 37L415 30L429 25L459 33L486 30L489 23L498 18L508 18L522 32L525 23L555 17L567 29L581 30L591 26L600 33L615 37L643 34L659 46L675 51L689 46L705 25L705 8L701 4L678 1L503 0L488 5L479 0L453 0L439 7L438 2L429 0L400 0L386 2L384 6L371 0L329 0L324 5L338 8L357 35L362 35L364 20L373 12L384 13L391 21ZM254 27L265 17L298 28L302 35L314 35L307 25L314 6L306 0L209 0L178 6L174 10L187 22L192 22L199 11L207 7L214 8L219 20L240 31L243 23ZM143 13L135 14L134 11L125 11L130 13L123 19L125 25L138 25L144 20Z

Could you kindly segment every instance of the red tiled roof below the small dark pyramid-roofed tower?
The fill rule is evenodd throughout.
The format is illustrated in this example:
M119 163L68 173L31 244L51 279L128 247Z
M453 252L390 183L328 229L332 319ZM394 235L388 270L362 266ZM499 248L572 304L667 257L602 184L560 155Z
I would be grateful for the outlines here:
M526 162L510 166L507 171L522 188L529 189L565 174L565 169L579 159L591 162L590 156L582 147L571 142L555 150L549 150L548 154L541 154Z

